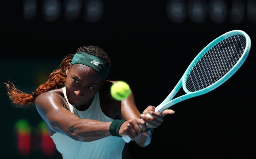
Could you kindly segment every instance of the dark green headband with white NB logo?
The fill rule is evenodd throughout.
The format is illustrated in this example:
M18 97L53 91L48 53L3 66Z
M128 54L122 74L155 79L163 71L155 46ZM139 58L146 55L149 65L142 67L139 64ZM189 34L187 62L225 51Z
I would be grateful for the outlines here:
M96 58L95 56L84 52L78 52L74 55L71 61L71 65L73 64L82 64L89 66L90 68L98 72L104 80L109 74L108 66L104 62L102 62L99 58Z

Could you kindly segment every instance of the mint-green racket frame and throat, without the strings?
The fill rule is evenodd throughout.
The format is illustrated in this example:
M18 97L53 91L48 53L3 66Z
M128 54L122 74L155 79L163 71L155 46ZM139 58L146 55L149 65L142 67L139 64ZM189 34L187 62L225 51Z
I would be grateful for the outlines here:
M224 40L230 36L234 36L234 35L243 35L246 38L246 47L244 49L242 56L238 60L238 62L236 62L236 64L222 78L220 78L218 81L214 82L212 85L209 85L208 87L201 89L199 91L195 91L195 92L188 91L186 89L186 79L188 77L190 69L194 65L197 64L198 60L200 60L200 58L203 57L202 55L204 55L207 51L209 51L211 48L213 48L216 44L218 44L222 40ZM234 73L236 73L236 71L242 66L242 64L244 63L244 61L246 60L246 58L250 52L250 48L251 48L250 37L242 30L233 30L233 31L227 32L227 33L223 34L222 36L219 36L218 38L213 40L194 58L194 60L190 63L187 70L183 74L180 81L178 81L178 83L176 84L174 89L171 91L171 93L166 97L166 99L164 99L164 101L156 107L155 112L160 114L160 113L162 113L162 111L164 111L168 107L170 107L176 103L179 103L180 101L184 101L186 99L208 93L209 91L212 91L213 89L220 86L222 83L224 83L226 80L228 80ZM185 91L186 94L172 100L172 98L176 95L176 93L179 91L181 86L183 87L183 90Z

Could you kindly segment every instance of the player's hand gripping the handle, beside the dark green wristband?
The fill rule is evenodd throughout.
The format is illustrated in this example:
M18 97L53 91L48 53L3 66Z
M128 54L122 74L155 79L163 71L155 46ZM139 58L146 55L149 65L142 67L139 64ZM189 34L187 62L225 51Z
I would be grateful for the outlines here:
M140 129L139 125L142 126L142 130ZM136 137L142 134L145 136L148 136L148 133L146 131L143 131L146 129L147 129L147 126L145 121L134 117L122 123L118 133L120 136L127 135L131 138L132 141L134 141Z

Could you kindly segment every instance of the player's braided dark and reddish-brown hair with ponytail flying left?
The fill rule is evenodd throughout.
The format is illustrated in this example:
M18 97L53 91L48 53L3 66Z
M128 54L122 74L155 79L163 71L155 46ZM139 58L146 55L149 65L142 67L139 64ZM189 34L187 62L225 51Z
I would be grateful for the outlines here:
M100 60L102 60L109 68L111 68L111 60L98 46L82 46L78 48L77 52L85 52L87 54L93 55ZM24 93L18 90L13 83L8 81L8 83L4 83L6 85L7 94L12 101L16 105L16 107L27 107L33 104L36 101L36 96L40 95L41 93L51 91L54 89L58 89L65 86L66 82L66 68L68 63L71 62L74 54L70 54L64 57L62 62L60 63L60 68L54 70L46 83L39 85L39 87L34 91L32 94Z

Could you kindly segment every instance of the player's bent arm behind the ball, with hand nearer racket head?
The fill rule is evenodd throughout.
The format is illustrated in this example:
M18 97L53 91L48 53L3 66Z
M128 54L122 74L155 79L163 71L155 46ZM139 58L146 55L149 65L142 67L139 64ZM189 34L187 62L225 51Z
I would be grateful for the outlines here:
M164 115L174 113L173 110L167 109L161 114L157 114L154 112L155 107L150 105L143 111L143 114L141 114L135 105L133 93L131 93L127 99L121 101L120 105L117 107L117 111L122 119L128 120L134 117L141 117L148 124L148 128L158 127L162 121L164 121ZM151 115L151 117L146 116L148 113ZM148 133L143 132L142 135L138 135L138 137L135 139L135 142L141 147L146 147L148 144L150 144L152 131L153 129L148 131ZM148 135L146 136L145 134Z

